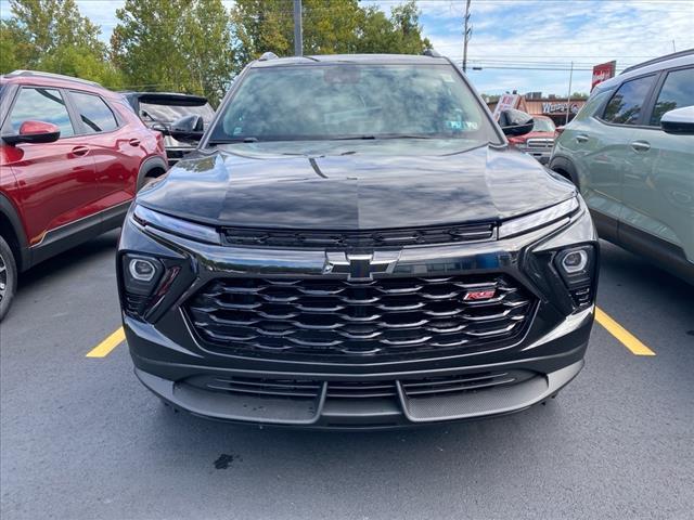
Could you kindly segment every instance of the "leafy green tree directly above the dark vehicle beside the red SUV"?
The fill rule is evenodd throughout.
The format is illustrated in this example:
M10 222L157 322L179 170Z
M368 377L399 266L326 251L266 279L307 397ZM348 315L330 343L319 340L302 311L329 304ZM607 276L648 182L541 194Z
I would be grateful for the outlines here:
M112 56L129 88L219 101L234 70L231 17L221 0L126 0L116 17Z

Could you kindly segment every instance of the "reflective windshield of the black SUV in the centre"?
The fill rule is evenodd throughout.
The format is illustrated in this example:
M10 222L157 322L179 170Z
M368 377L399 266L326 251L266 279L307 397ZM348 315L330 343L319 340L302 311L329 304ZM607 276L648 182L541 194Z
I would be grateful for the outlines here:
M250 69L220 108L210 144L235 141L440 138L498 141L449 65Z

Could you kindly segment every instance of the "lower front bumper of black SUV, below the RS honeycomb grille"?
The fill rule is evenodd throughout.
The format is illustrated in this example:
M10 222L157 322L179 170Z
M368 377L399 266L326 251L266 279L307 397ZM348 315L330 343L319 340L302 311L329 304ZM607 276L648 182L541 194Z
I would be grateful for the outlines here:
M539 344L528 346L525 359L465 368L436 369L432 366L426 370L369 375L337 376L316 370L292 373L292 378L318 382L319 390L309 399L203 389L189 381L201 377L214 380L239 377L245 380L274 381L283 380L277 378L286 378L290 374L271 370L269 367L248 370L151 360L138 355L137 351L142 348L166 349L166 340L150 325L128 318L126 334L136 364L136 375L146 388L176 410L233 422L316 429L380 429L505 415L543 402L574 379L583 366L592 320L591 308L565 321L540 338L537 341ZM157 338L160 343L156 342ZM558 353L535 356L536 349L543 353ZM420 381L425 377L464 379L466 375L509 374L512 370L526 373L529 377L514 385L473 388L428 396L412 398L406 391L408 381ZM395 391L386 396L331 396L331 385L344 385L345 381L373 386L387 381Z

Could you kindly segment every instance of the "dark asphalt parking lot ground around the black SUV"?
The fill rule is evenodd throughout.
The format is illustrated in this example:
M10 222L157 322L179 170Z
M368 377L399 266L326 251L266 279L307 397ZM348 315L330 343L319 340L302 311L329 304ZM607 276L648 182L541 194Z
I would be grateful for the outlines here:
M0 325L5 520L692 518L694 287L629 252L603 244L599 291L624 342L596 324L557 400L322 433L206 421L151 395L118 335L102 342L119 327L116 242L26 273Z

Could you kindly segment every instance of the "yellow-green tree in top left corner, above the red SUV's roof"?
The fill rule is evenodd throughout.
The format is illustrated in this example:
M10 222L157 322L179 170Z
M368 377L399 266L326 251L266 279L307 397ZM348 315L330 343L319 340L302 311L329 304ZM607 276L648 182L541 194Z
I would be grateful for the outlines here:
M75 0L10 0L0 25L0 70L31 68L117 87L100 28L81 16Z

